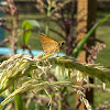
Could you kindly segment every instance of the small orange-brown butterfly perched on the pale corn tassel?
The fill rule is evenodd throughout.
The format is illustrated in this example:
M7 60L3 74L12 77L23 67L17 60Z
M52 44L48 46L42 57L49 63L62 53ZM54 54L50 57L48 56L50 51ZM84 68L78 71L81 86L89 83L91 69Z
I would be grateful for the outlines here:
M65 41L56 41L56 40L48 37L45 34L40 35L40 41L42 43L43 50L46 53L46 55L58 53L59 50L65 44Z

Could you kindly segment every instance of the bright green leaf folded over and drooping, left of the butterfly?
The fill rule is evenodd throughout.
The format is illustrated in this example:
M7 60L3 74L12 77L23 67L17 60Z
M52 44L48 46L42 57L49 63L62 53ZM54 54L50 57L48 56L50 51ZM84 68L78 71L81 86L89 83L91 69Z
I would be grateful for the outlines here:
M22 34L23 45L28 45L32 30L44 32L44 29L35 20L24 20L22 24L22 30L23 30Z

